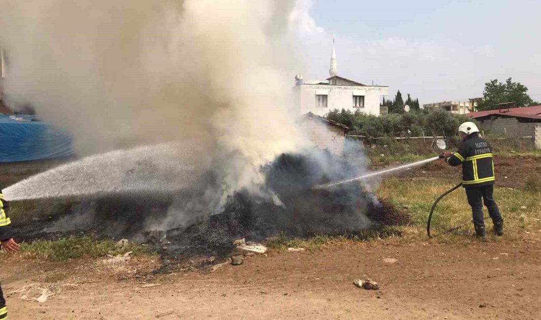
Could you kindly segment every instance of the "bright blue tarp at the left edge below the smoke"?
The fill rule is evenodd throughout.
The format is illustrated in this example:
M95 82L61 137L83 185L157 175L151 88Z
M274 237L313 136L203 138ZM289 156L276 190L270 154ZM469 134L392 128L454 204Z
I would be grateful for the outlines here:
M0 114L0 162L60 158L72 153L71 136L63 130L36 121L34 116Z

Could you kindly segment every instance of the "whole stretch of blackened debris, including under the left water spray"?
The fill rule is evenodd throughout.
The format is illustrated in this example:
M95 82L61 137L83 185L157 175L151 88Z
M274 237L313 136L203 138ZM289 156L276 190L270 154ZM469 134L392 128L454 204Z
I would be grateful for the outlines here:
M384 225L408 223L407 214L378 200L358 182L316 188L358 174L354 166L328 152L282 154L262 172L265 192L237 191L228 197L220 213L183 217L180 227L177 224L169 230L150 231L148 219L163 219L179 197L188 198L189 194L124 194L83 201L78 206L80 213L52 219L45 231L53 238L94 232L98 237L148 241L164 256L186 260L226 257L235 250L235 239L262 241L278 233L291 237L356 235ZM23 238L49 238L43 226L40 221L36 237L25 234Z

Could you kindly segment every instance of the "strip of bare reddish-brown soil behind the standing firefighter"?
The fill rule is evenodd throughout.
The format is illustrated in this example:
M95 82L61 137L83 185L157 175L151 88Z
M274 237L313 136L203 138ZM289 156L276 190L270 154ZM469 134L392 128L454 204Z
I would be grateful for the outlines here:
M541 159L527 156L494 157L496 185L516 188L523 186L527 178L538 176L541 179ZM400 174L401 178L438 178L460 182L462 167L450 167L444 161L434 161L423 167L412 168Z

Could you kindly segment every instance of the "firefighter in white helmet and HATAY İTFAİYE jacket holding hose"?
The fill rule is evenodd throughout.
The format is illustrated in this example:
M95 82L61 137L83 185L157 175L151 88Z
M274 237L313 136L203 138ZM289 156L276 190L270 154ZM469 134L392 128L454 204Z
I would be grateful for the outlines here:
M494 191L494 162L492 147L481 138L473 122L464 122L458 127L462 143L457 152L445 152L443 157L451 166L462 165L462 185L468 203L472 207L473 226L477 237L486 235L483 221L483 203L489 210L494 233L504 234L504 220L492 195ZM483 201L481 201L481 199Z

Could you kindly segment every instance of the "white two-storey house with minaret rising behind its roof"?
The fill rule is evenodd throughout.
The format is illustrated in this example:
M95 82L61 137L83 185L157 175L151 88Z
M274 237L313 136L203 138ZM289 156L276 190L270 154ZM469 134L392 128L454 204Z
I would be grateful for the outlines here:
M388 86L367 86L338 75L337 57L334 49L331 54L331 77L326 80L302 81L295 77L294 93L299 101L299 114L312 112L323 116L334 109L346 109L373 115L387 114L386 107L380 107L381 96L389 94Z

